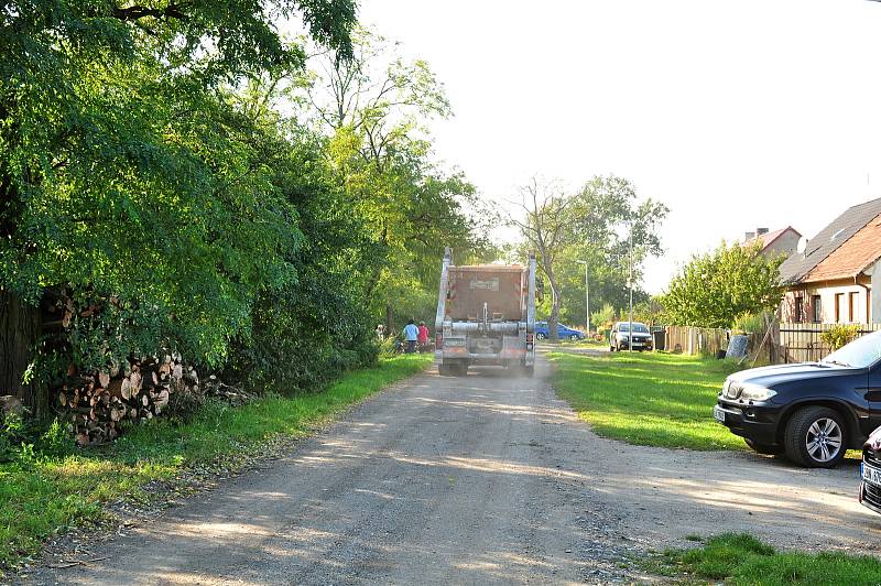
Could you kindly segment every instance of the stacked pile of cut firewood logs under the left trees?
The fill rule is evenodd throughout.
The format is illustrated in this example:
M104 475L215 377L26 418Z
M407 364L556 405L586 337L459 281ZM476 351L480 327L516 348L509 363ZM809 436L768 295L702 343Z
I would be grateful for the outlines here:
M168 406L175 393L199 395L199 378L180 356L132 361L119 372L78 373L72 367L58 408L78 445L116 440L123 422L141 423Z

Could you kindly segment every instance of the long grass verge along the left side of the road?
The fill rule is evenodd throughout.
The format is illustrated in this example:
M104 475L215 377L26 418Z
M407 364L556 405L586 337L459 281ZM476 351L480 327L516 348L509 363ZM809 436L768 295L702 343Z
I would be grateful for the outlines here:
M305 435L340 410L424 369L432 355L389 358L352 371L323 392L271 397L241 408L205 405L194 420L131 430L109 449L0 465L0 577L53 534L107 518L104 503L145 501L148 482L175 486L185 469L236 469L274 441Z

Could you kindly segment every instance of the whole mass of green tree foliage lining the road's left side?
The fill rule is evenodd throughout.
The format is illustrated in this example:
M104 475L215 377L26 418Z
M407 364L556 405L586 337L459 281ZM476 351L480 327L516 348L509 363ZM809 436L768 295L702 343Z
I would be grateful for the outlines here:
M369 69L351 0L4 4L0 300L57 322L19 335L25 377L177 351L251 388L314 388L373 358L401 276L429 291L443 246L477 242L474 188L411 137L431 108L402 119L381 97L359 124L312 123L320 80L289 19L333 68ZM424 64L389 67L446 104Z

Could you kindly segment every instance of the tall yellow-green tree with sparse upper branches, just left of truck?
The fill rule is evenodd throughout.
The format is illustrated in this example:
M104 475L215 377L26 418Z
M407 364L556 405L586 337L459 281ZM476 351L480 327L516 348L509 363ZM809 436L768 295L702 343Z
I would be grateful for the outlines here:
M470 213L479 206L475 187L431 158L426 127L450 113L443 86L425 62L366 30L355 35L351 59L328 52L312 68L313 118L372 235L363 271L371 315L389 328L431 315L444 247L458 262L492 254Z

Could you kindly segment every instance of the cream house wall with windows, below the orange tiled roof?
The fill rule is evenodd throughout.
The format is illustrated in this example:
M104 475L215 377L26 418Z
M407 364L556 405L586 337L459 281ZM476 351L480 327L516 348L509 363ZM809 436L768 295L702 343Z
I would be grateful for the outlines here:
M872 287L872 280L877 280L881 285L881 269L877 271L877 275L869 278L861 275L857 283L852 279L842 279L840 281L829 281L825 283L807 283L800 285L786 292L781 305L781 319L787 323L795 323L796 319L796 299L802 299L802 323L809 323L814 321L814 295L820 297L820 323L835 324L835 305L838 299L841 302L839 316L837 323L858 323L864 324L871 322L872 316L875 318L881 317L881 289ZM879 294L874 295L874 300L870 297L870 290L867 285ZM853 303L853 315L849 315L850 304L849 295L856 293ZM836 297L841 294L841 297ZM874 307L872 305L874 304Z

